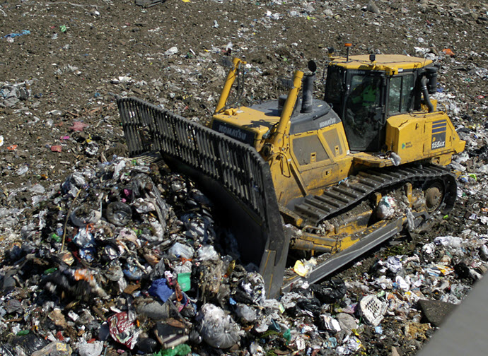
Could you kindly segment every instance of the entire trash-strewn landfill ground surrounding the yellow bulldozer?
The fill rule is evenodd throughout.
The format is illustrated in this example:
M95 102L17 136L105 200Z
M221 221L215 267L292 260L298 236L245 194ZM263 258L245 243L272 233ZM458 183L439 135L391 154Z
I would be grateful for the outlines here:
M488 4L7 0L0 23L0 355L415 355L486 271ZM221 57L252 102L344 42L441 66L458 201L269 299L209 198L127 157L115 96L204 123Z

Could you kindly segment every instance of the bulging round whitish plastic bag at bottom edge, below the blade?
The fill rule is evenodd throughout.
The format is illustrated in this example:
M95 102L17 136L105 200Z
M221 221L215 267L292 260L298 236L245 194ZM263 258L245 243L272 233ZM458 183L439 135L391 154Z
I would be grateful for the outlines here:
M203 340L213 348L230 348L240 340L239 326L214 304L204 304L195 320Z

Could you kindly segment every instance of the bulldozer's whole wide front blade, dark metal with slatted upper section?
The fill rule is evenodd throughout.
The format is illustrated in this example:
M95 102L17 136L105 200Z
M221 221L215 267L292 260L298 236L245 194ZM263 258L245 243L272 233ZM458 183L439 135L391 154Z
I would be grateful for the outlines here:
M243 261L260 266L268 297L283 283L284 233L269 165L251 146L134 97L117 98L129 154L159 153L194 179L238 241Z

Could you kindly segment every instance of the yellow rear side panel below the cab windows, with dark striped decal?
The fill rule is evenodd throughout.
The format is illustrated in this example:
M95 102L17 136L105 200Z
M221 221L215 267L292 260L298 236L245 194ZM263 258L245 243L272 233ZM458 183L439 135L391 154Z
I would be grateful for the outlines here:
M451 120L444 112L401 114L387 120L385 143L402 163L426 158L451 160L464 149Z

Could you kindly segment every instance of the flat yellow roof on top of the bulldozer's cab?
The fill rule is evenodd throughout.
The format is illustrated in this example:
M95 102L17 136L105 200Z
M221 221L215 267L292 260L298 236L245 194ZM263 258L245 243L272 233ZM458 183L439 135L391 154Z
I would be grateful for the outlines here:
M376 60L370 61L369 55L334 58L329 65L342 66L345 69L369 71L385 71L387 74L397 74L405 70L419 69L431 64L431 59L409 57L402 54L376 54Z

